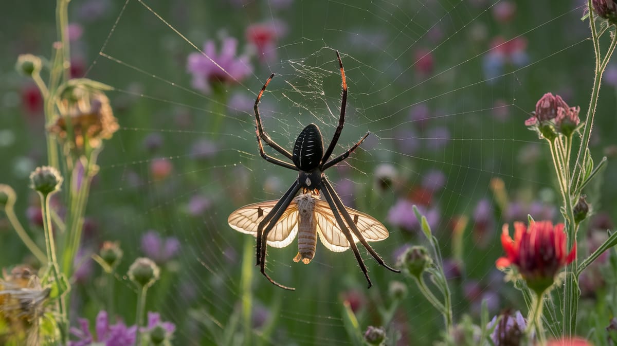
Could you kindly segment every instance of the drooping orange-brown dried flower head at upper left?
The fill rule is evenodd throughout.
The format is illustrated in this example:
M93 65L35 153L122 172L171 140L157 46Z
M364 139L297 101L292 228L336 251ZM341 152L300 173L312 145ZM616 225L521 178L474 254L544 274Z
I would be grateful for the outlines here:
M102 140L112 138L120 127L109 99L100 90L81 84L70 86L60 95L60 105L62 114L48 130L68 149L82 153L86 148L99 148Z

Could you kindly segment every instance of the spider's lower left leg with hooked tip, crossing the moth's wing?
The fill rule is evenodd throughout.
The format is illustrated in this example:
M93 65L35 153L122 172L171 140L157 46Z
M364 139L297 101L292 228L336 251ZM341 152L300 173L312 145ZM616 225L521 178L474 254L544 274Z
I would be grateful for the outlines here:
M281 197L281 199L278 200L278 202L276 202L276 205L272 208L270 213L268 213L268 215L263 219L263 221L260 222L259 225L257 226L257 255L258 255L257 263L259 263L260 265L259 269L261 273L263 274L263 276L265 276L268 279L268 281L270 281L272 284L275 284L276 286L281 287L282 289L288 289L288 290L296 290L296 289L294 289L293 287L283 286L279 284L278 282L270 278L270 276L266 273L266 249L268 246L267 239L268 239L268 233L270 233L272 228L274 228L275 224L281 218L281 215L283 215L283 213L285 212L289 204L291 204L291 201L294 199L294 197L296 197L296 193L299 190L300 190L300 183L296 181L296 183L294 183L291 187L289 187L288 191L285 192L283 197ZM270 216L270 215L273 215L273 216ZM265 224L265 221L267 219L269 219L268 226L262 231L263 224Z

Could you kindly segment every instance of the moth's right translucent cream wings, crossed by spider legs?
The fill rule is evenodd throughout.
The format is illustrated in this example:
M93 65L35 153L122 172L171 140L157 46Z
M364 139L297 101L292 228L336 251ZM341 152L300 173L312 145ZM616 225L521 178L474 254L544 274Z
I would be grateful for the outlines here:
M366 239L366 241L374 242L386 239L389 235L386 226L381 222L373 218L373 216L367 215L363 212L359 212L353 208L348 208L347 213L354 220L355 225L360 231L360 234ZM342 216L341 216L342 217ZM349 249L349 241L342 232L341 227L334 218L334 213L330 209L327 202L323 200L317 200L315 204L315 219L317 220L317 231L320 236L321 242L331 251L342 252ZM343 222L347 226L350 232L351 229L347 222L343 219ZM352 232L352 239L354 242L360 240Z

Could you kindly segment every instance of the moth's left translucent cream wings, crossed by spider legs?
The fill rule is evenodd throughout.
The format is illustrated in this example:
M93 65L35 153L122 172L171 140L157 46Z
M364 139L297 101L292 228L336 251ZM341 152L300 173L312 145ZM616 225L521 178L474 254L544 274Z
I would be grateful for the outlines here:
M272 211L278 200L267 200L255 204L245 205L231 213L227 223L238 232L251 234L257 237L257 226ZM283 212L281 218L268 233L268 245L272 247L286 247L298 233L298 208L296 202L291 202Z

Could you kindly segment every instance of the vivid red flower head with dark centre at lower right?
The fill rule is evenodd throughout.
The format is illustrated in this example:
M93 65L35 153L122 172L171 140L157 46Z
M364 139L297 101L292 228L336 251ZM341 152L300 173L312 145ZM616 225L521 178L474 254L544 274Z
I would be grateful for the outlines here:
M557 271L576 258L576 243L566 253L563 228L563 223L553 227L551 221L532 222L529 228L515 222L513 240L508 234L508 224L504 224L502 246L506 257L497 259L495 265L497 268L517 266L528 286L536 292L543 292L553 284Z

